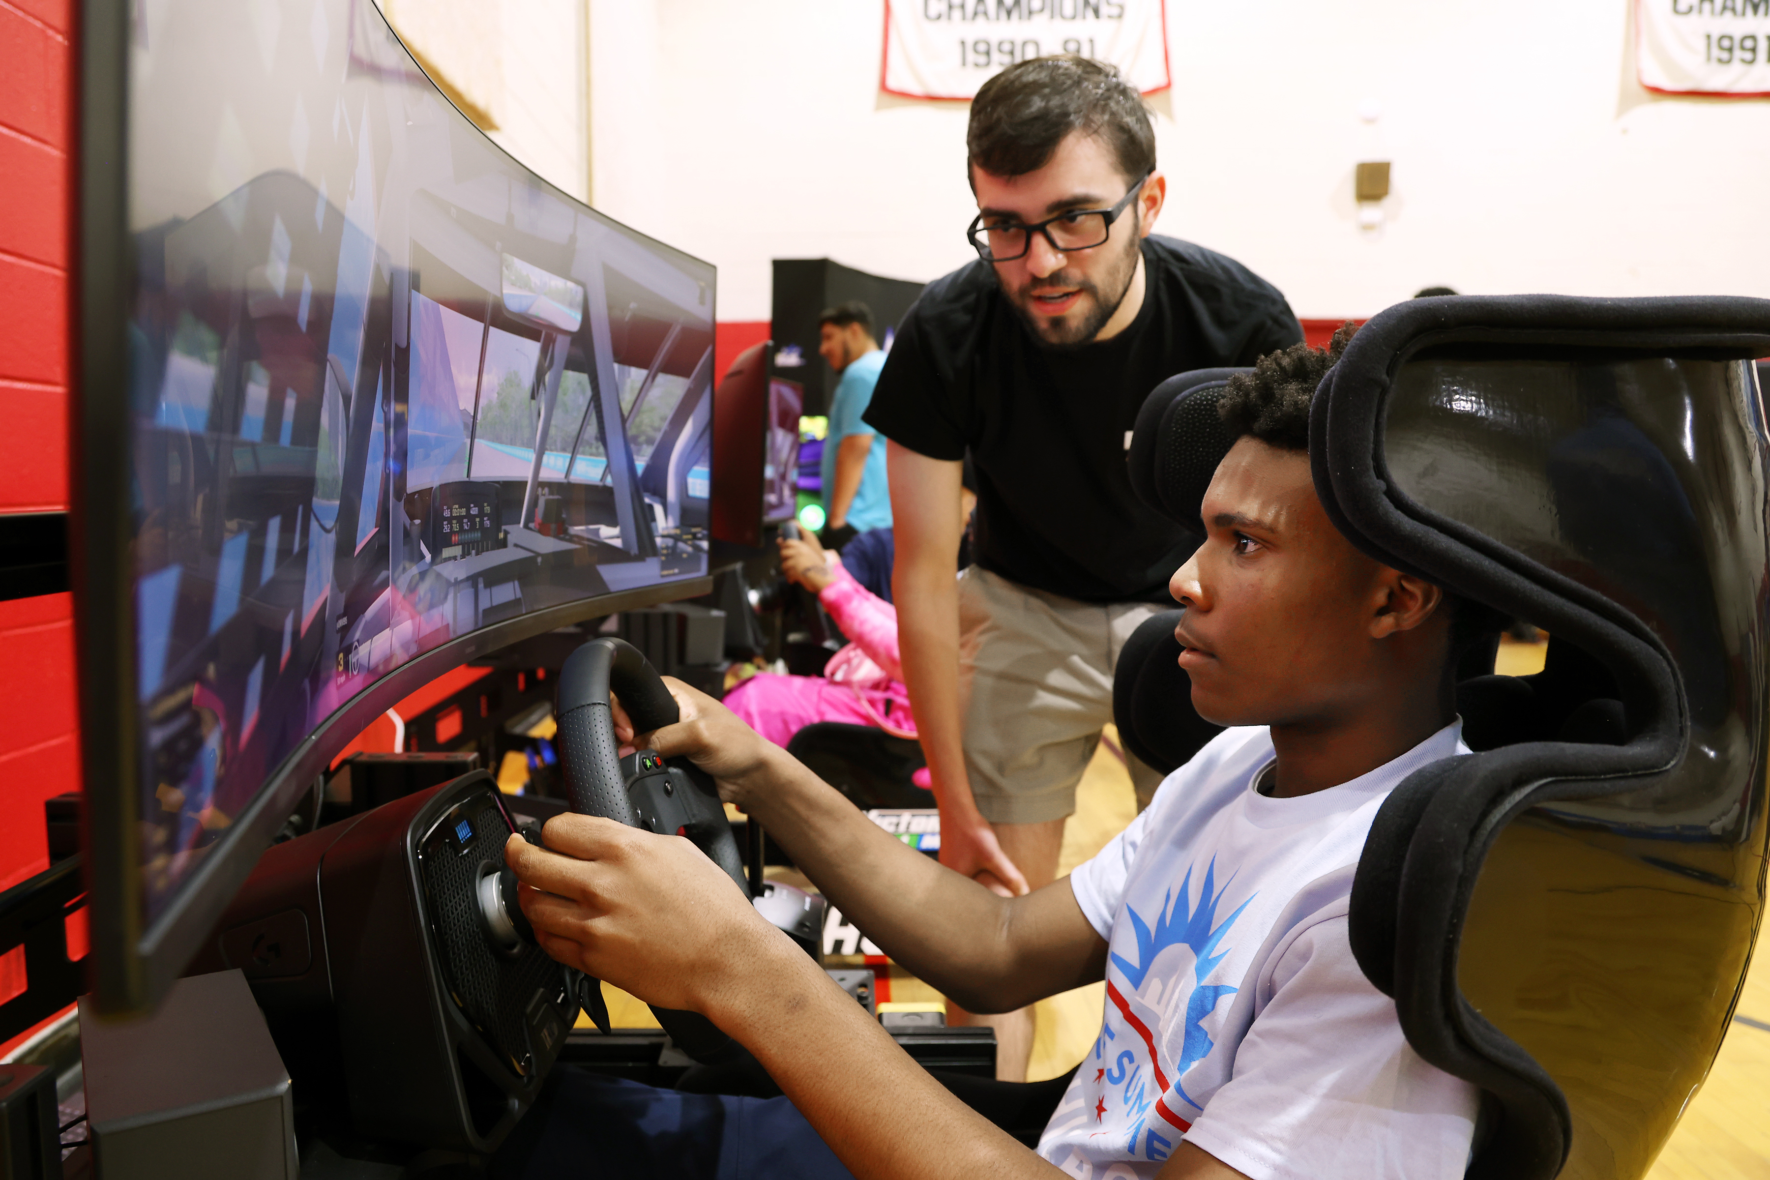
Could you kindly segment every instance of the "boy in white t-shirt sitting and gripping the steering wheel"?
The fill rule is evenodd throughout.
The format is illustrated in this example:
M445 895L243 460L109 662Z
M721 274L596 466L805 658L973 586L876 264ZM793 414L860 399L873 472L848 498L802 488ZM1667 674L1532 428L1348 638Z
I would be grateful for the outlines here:
M1462 1176L1476 1090L1409 1047L1352 959L1347 899L1388 791L1467 752L1455 667L1487 617L1356 550L1315 495L1310 396L1349 336L1271 354L1225 395L1239 437L1172 591L1193 702L1230 729L1073 876L1009 899L943 869L685 686L671 685L680 724L635 736L618 720L623 741L699 762L959 1003L1106 978L1099 1040L1037 1157L901 1053L692 844L561 816L547 849L508 847L542 946L706 1014L786 1099L699 1116L683 1102L717 1099L566 1074L543 1123L519 1129L510 1175L667 1159L710 1176Z

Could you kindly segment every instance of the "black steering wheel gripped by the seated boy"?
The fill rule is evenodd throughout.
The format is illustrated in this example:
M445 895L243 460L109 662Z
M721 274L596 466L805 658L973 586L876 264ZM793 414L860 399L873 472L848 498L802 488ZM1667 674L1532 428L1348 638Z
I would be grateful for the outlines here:
M666 759L655 750L620 757L611 688L632 718L634 732L674 725L681 718L676 699L632 644L595 639L573 651L559 670L556 708L559 761L572 810L687 837L726 870L743 897L750 897L738 840L731 835L713 778L685 757ZM596 1023L605 1028L607 1010L596 980L586 980L581 996L593 1001L584 1007L593 1019L600 1014ZM735 1049L735 1042L697 1012L653 1008L653 1014L676 1047L697 1061L719 1060Z

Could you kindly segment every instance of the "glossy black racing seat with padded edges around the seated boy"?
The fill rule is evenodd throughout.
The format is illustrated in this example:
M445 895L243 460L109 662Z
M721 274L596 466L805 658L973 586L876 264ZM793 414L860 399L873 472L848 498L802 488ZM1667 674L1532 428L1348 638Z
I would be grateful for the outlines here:
M1391 793L1352 892L1409 1042L1485 1093L1471 1176L1644 1175L1728 1030L1770 847L1761 356L1766 301L1416 299L1317 391L1342 533L1551 635L1536 676L1464 665L1476 754ZM1223 451L1161 426L1211 421L1225 375L1198 377L1131 446L1143 499L1195 529ZM1127 658L1172 663L1145 626ZM1197 722L1158 693L1184 676L1117 683L1145 678L1120 732L1181 748Z

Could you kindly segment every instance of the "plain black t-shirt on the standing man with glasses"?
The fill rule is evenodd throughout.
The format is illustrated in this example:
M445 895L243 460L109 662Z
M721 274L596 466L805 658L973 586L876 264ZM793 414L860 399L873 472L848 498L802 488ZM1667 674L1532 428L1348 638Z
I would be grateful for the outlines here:
M1195 541L1124 469L1149 393L1195 368L1253 364L1303 340L1278 288L1220 253L1143 239L1143 306L1126 331L1044 349L984 262L935 280L897 327L866 421L977 469L974 559L1080 601L1168 601Z

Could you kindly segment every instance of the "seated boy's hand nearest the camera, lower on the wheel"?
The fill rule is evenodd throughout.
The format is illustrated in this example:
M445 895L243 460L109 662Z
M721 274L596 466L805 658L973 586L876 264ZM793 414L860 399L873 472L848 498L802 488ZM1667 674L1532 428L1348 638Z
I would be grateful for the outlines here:
M715 1015L745 971L796 950L683 837L554 816L542 839L504 844L542 950L646 1003Z

